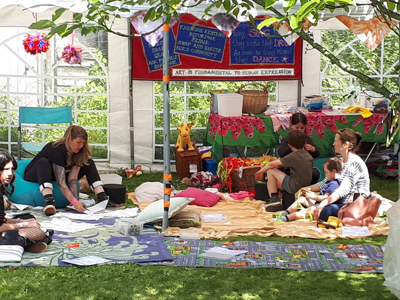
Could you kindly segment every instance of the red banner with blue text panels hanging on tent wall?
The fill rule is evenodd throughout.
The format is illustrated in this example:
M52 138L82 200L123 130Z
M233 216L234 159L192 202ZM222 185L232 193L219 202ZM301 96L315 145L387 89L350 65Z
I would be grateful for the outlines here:
M262 32L241 22L227 37L211 20L184 14L169 29L170 80L301 79L301 38L289 45L273 26ZM151 46L143 36L132 38L133 79L162 80L162 44L163 39Z

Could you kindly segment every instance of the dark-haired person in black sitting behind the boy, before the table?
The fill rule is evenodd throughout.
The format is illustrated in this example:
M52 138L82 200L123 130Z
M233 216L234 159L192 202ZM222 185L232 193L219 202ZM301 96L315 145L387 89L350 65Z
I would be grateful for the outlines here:
M305 114L301 112L294 113L291 116L291 130L299 130L301 132L305 132L305 127L307 126L307 117ZM315 143L312 141L311 137L306 135L305 137L305 150L307 150L308 154L312 156L312 158L317 158L319 156L319 150L315 146ZM287 154L291 153L291 149L287 144L286 138L283 138L280 142L278 154L279 157L282 158Z

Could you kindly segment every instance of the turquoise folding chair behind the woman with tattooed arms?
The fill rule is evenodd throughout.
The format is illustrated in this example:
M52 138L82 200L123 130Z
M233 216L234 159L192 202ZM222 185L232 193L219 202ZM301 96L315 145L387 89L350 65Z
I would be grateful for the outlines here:
M21 124L53 124L53 123L69 123L72 125L72 107L19 107L18 121L18 160L21 160L21 150L32 153L32 151L40 151L43 146L35 145L31 142L21 143ZM28 127L28 126L25 126Z

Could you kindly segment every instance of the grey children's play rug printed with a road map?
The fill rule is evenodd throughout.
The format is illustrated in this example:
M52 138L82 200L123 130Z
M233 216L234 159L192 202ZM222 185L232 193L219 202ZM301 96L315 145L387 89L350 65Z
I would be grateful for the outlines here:
M383 272L383 251L369 244L283 243L277 241L213 241L163 238L173 261L140 263L210 267L274 267L302 271ZM248 252L229 261L198 256L214 246Z

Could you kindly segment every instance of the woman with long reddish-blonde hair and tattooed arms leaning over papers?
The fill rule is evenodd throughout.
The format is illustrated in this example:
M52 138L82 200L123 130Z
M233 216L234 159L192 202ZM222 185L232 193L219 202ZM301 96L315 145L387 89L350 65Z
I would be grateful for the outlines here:
M39 183L40 192L44 197L46 215L55 213L51 181L57 182L70 205L79 212L85 210L83 203L78 200L77 190L78 180L83 176L86 176L99 202L108 200L97 168L90 158L91 150L87 140L87 132L83 127L71 125L60 139L46 144L26 166L24 179ZM107 208L125 207L108 200Z

